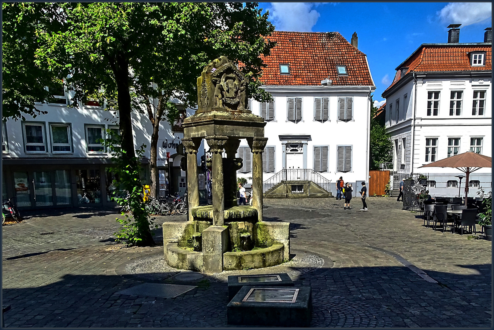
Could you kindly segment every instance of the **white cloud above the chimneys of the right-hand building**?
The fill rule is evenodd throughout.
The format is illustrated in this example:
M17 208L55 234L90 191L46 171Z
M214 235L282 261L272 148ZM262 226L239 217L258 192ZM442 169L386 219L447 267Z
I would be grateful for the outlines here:
M444 24L467 26L480 23L492 16L491 2L450 2L437 12Z

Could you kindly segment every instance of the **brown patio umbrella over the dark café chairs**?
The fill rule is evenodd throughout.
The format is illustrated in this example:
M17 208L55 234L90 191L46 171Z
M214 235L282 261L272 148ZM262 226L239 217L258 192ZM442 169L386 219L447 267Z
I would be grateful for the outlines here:
M437 162L430 163L422 167L452 167L465 173L465 205L468 199L468 177L470 173L477 171L483 167L492 167L492 158L487 157L473 151L460 153L459 155L444 158Z

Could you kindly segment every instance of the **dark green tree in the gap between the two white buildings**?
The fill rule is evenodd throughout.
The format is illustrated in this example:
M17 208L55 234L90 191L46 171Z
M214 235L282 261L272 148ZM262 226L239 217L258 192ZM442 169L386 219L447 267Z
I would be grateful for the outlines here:
M377 108L371 98L371 134L370 134L370 149L369 168L378 170L379 164L389 163L393 160L393 143L386 133L386 127L380 124L374 117Z

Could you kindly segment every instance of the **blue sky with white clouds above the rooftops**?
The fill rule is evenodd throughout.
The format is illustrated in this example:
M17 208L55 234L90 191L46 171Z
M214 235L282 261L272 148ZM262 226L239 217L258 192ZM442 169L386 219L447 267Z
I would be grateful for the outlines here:
M420 44L448 41L448 25L462 24L460 42L483 42L484 29L492 27L490 2L260 2L259 7L269 10L279 31L339 32L347 40L357 32L377 102L396 67Z

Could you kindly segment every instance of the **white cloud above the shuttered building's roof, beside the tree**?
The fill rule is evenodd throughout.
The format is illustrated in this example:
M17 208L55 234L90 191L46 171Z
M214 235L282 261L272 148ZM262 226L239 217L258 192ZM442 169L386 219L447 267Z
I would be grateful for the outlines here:
M312 9L314 5L312 2L271 2L269 16L278 31L311 32L321 16Z

